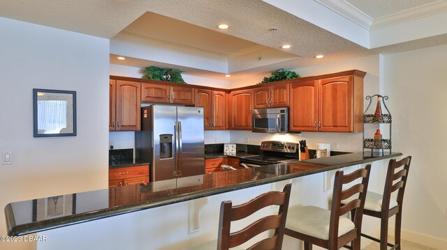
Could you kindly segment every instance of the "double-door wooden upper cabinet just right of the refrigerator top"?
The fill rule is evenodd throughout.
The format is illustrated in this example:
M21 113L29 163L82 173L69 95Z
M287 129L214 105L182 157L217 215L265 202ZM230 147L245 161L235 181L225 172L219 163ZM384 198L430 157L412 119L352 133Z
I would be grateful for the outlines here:
M226 93L196 89L196 107L203 107L205 130L226 130Z

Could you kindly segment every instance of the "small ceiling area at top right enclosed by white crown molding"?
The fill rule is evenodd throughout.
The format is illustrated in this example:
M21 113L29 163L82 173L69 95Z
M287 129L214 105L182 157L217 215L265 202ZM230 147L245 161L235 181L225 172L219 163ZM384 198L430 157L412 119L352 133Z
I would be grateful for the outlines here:
M345 0L372 18L398 13L439 0Z

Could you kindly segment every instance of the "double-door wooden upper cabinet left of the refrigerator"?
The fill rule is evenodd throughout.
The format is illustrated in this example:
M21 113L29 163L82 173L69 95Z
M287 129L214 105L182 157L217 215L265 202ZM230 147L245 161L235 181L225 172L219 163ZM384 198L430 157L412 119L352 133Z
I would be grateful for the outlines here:
M109 131L140 130L140 88L140 82L109 81Z

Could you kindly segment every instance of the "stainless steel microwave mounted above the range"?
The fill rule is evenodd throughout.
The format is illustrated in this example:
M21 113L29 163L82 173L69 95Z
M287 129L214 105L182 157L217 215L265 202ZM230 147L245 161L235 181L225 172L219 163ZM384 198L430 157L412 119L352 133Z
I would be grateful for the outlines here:
M253 109L251 132L288 133L288 107L277 109Z

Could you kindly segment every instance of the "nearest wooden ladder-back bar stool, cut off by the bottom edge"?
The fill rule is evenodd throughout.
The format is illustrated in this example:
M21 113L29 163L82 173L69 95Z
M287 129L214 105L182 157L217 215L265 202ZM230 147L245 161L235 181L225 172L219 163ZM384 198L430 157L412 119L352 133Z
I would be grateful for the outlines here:
M238 246L244 244L259 233L272 229L274 229L274 235L272 235L272 237L268 237L260 242L257 242L253 246L249 247L249 249L281 249L290 195L291 184L288 184L284 186L283 192L267 192L241 205L232 206L231 201L223 201L221 203L219 236L217 241L214 240L206 242L189 249L226 250L233 247L235 247L235 249L242 249ZM245 217L249 217L249 215L253 214L254 212L270 205L279 205L278 214L263 217L249 226L242 228L240 231L230 233L231 221L237 221L244 219Z

